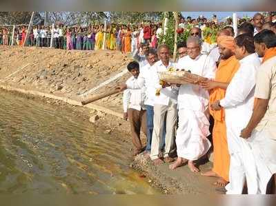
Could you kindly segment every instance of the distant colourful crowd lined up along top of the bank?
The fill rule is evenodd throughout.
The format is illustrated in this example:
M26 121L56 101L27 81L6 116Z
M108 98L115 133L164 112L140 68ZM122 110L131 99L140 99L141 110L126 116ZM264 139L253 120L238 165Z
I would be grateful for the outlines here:
M273 21L276 21L276 16L272 18ZM243 21L246 19L239 19L239 24ZM226 25L233 25L231 19L228 18L226 22L219 22L215 14L212 19L206 19L202 16L197 19L179 18L179 32L197 26L203 31L203 36L206 28L222 28ZM108 23L106 30L103 24L81 27L58 23L53 29L52 26L34 25L27 37L27 26L21 25L14 30L13 44L23 45L26 40L28 46L50 47L51 37L53 37L53 48L63 50L100 50L104 48L129 53L134 52L140 43L148 43L150 47L156 49L163 33L162 29L162 23L154 22L128 23L127 25ZM103 41L104 37L106 38L105 41ZM203 38L208 41L206 37ZM0 45L12 45L12 27L0 27Z

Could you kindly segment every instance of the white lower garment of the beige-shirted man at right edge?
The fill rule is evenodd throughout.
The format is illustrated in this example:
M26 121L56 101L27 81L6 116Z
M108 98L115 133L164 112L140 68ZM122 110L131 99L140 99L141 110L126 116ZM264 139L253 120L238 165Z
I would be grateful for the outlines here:
M254 131L248 143L255 159L258 194L266 194L268 181L276 174L276 140L265 130Z

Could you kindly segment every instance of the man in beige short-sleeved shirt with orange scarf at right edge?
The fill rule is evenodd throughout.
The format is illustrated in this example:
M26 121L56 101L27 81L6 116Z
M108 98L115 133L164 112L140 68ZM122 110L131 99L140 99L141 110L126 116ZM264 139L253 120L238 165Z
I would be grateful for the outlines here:
M264 59L257 72L253 114L241 136L252 147L259 181L257 193L276 194L276 35L263 30L254 41L257 54ZM272 188L268 187L270 178Z

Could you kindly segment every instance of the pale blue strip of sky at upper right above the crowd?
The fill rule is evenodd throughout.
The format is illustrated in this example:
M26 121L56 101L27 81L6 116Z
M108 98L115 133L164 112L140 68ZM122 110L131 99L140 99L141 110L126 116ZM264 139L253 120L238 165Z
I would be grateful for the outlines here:
M197 18L199 15L203 15L207 19L210 19L213 14L217 14L217 19L221 20L226 17L232 17L234 12L181 12L184 17L192 17L192 18ZM237 17L253 17L253 15L257 12L235 12L237 13Z

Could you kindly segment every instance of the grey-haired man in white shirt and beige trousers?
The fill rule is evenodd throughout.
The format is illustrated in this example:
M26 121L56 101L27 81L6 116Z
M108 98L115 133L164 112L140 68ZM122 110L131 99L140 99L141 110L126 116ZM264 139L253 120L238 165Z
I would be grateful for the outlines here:
M175 64L170 61L170 49L168 45L161 44L157 49L157 54L160 61L157 61L152 66L152 85L160 90L160 93L155 96L154 102L154 117L153 117L153 133L150 158L155 165L163 163L163 159L159 157L159 144L162 140L164 121L166 116L166 137L164 149L164 161L172 162L169 154L173 149L175 142L175 124L177 123L177 94L178 88L174 85L159 85L158 72L165 72L168 69L175 67Z

